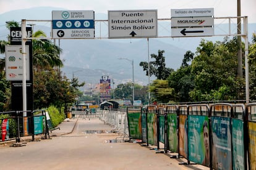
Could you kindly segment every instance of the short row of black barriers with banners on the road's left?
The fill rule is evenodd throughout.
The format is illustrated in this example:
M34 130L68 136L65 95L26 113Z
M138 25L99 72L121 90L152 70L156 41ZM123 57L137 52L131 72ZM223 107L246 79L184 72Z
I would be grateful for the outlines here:
M6 111L0 112L4 118L0 118L0 142L16 140L20 142L21 137L43 134L45 139L49 137L49 131L53 130L53 124L45 110L25 111L27 115L23 116L24 111Z

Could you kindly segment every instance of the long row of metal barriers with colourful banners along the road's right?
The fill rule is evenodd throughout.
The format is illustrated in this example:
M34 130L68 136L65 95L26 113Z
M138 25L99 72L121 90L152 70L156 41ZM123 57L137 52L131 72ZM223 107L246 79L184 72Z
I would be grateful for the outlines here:
M256 103L128 107L127 121L130 139L185 158L181 164L256 169Z

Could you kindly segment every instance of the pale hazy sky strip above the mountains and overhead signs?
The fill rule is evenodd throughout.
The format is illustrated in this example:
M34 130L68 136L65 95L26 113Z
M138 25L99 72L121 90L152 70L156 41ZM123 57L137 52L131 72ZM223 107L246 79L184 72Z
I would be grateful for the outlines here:
M171 9L214 8L215 17L236 17L236 0L0 0L0 14L15 9L31 7L61 7L67 10L94 10L108 13L108 10L157 9L158 18L170 18ZM248 16L249 23L256 23L256 1L241 0L241 15Z

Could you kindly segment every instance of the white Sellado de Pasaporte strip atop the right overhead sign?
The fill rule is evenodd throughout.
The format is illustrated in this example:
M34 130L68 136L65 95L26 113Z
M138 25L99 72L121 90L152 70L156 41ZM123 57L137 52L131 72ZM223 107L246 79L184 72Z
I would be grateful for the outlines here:
M213 15L213 8L171 9L171 17L210 17Z

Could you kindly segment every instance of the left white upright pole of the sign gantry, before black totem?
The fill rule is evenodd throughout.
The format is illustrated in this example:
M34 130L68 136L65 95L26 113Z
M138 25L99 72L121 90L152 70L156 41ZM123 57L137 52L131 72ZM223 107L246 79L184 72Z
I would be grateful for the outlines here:
M22 102L23 102L23 116L27 116L27 77L26 77L26 20L22 20L21 25L22 30L22 69L23 69L23 78L22 78Z

